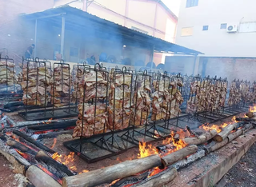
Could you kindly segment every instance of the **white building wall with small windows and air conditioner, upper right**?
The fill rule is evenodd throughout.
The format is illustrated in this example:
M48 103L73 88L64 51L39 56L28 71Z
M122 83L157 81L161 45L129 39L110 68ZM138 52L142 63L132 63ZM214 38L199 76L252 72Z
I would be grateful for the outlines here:
M176 43L198 50L206 56L256 57L256 32L229 34L222 23L256 22L255 0L198 0L198 6L186 8L182 0ZM202 26L209 26L203 31ZM182 28L193 26L193 35L182 37Z

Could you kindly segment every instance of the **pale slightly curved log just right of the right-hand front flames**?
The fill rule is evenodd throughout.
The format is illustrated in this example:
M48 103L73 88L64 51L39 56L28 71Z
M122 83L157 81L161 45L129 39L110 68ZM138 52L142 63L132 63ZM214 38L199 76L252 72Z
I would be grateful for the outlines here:
M215 129L212 129L206 133L203 133L199 137L186 137L182 141L186 143L186 145L199 145L206 141L209 141L216 135L217 135L217 131Z

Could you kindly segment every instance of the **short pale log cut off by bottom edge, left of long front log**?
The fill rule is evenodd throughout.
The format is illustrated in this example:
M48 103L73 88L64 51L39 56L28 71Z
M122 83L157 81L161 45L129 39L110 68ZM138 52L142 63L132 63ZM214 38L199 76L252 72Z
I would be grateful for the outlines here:
M31 165L26 170L26 177L35 187L62 187L62 185L35 165Z

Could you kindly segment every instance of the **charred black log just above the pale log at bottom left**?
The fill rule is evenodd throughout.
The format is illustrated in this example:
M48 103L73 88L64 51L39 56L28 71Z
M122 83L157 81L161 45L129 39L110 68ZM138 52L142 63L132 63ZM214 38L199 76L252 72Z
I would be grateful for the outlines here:
M35 159L37 161L43 161L44 163L46 163L46 165L48 165L49 167L53 167L55 169L61 170L62 173L66 173L67 176L73 176L74 173L72 173L70 171L70 169L68 169L66 167L66 165L62 165L61 163L59 163L58 161L55 161L52 157L49 157L45 152L38 151L37 155L35 156Z

